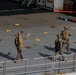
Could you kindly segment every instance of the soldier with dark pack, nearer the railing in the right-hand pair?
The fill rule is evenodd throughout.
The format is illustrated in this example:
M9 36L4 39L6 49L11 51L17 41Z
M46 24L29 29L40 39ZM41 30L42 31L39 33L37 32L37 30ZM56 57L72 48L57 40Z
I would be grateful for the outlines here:
M62 49L62 42L63 42L63 40L62 40L60 34L58 34L57 39L55 40L55 56L61 52L62 59L65 60L64 50ZM57 58L55 57L55 61L56 60L57 60Z

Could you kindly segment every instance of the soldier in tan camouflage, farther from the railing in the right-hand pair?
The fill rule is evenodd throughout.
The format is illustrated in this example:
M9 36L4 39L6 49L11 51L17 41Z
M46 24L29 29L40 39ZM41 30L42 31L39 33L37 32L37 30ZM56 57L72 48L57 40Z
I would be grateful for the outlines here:
M62 48L64 48L65 44L67 45L67 53L70 53L70 42L69 42L69 36L70 33L68 32L68 28L64 27L64 31L61 33L62 39L66 42L62 43Z

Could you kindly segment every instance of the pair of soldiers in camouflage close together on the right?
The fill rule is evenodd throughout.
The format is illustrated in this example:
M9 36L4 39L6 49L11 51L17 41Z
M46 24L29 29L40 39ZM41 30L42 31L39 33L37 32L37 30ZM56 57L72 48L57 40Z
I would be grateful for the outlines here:
M64 30L57 35L57 39L55 40L55 56L58 55L58 53L61 54L64 61L66 60L64 56L65 45L67 45L67 54L70 54L69 36L71 36L71 34L68 31L68 27L64 27ZM55 61L57 61L56 57Z

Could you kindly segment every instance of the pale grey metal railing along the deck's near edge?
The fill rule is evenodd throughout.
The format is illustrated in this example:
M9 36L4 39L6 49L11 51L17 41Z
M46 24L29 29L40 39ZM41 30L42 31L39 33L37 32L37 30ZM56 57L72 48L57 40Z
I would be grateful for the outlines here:
M76 70L76 54L64 55L67 60L63 61L61 55L29 58L23 61L2 61L0 62L0 75L36 75L49 73L63 73ZM54 59L58 61L55 62ZM53 75L52 74L52 75Z

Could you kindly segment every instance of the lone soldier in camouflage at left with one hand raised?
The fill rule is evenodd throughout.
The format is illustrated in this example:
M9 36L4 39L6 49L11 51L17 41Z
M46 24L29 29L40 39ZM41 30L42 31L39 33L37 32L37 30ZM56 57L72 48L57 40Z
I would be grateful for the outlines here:
M18 60L19 58L23 60L22 51L23 51L23 48L25 48L25 46L23 46L23 39L27 39L30 36L30 33L28 33L27 36L23 38L22 33L23 31L20 31L19 33L17 33L16 38L15 38L15 46L18 51L16 60Z

